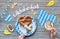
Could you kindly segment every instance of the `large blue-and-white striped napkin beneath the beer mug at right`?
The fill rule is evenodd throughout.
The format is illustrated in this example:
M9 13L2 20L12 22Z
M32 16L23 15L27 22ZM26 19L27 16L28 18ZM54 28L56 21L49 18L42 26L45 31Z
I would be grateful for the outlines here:
M44 28L44 23L46 21L51 21L52 23L56 22L56 16L54 14L48 14L45 10L39 11L37 17L42 28Z

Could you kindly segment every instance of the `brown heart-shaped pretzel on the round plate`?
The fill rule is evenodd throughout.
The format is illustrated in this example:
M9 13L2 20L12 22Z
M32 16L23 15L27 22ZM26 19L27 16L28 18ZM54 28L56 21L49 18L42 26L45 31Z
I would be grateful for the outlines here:
M18 19L18 22L22 26L24 26L25 24L29 26L32 23L32 18L30 16L26 16L26 17L22 16Z

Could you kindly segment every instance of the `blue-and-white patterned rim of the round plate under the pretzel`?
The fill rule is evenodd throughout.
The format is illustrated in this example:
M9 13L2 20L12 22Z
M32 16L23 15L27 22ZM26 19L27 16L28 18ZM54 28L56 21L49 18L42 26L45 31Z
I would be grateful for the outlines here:
M17 33L18 34L24 34L25 36L31 36L32 34L34 34L35 33L35 31L36 31L36 29L37 29L37 26L36 26L36 21L35 21L35 19L33 18L32 19L32 22L33 22L33 29L32 29L32 31L31 32L29 32L28 34L24 34L22 31L21 31L21 28L19 27L20 25L19 25L19 23L18 23L18 21L16 22L16 31L17 31Z

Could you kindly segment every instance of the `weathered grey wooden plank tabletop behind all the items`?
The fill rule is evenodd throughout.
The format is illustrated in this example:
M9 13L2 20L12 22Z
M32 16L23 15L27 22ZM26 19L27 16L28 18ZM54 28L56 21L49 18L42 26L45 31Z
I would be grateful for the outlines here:
M14 2L17 2L18 4L23 3L26 7L30 6L31 4L39 4L40 8L38 10L34 10L34 11L39 11L41 9L45 9L49 14L53 13L54 15L57 16L57 22L54 25L54 27L56 27L57 29L57 36L58 39L60 39L60 0L55 0L55 5L53 7L56 7L56 9L54 11L51 10L52 7L47 7L47 3L50 0L12 0ZM2 13L2 10L11 3L7 3L6 0L0 0L0 5L2 5L2 7L0 7L0 13ZM10 9L7 13L11 13L11 15L13 15L13 13L15 13L15 10L18 10L18 6L14 9ZM34 12L33 11L33 12ZM14 30L14 32L11 35L4 35L3 34L3 30L7 28L7 24L12 24L15 28L15 22L16 19L18 19L19 16L23 16L23 15L30 15L33 16L33 12L31 11L26 11L24 13L22 13L21 15L18 15L16 18L13 18L13 23L12 22L4 22L1 21L0 22L0 39L17 39L19 34ZM36 22L37 22L37 31L35 32L34 35L30 36L30 37L26 37L25 39L51 39L49 34L47 32L44 32L44 29L42 29L38 23L37 17L35 17Z

